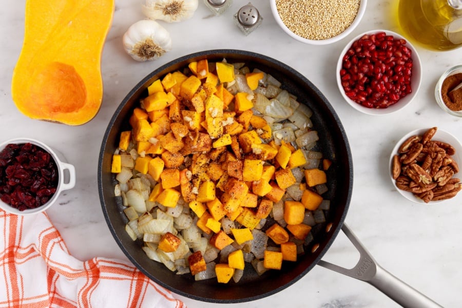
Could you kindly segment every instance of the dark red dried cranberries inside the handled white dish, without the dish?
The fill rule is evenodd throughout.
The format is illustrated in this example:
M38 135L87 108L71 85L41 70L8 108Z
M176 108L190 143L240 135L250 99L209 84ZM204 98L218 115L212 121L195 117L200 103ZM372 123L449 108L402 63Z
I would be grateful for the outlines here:
M0 152L0 200L25 210L48 202L56 192L57 166L31 143L8 144Z

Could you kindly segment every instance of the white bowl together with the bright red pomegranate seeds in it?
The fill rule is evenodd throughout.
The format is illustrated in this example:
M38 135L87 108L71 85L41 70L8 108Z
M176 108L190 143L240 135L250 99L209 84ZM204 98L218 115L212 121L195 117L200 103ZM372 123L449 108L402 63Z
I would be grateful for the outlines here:
M422 79L415 48L388 30L362 33L342 50L337 84L356 110L372 115L396 112L411 103Z

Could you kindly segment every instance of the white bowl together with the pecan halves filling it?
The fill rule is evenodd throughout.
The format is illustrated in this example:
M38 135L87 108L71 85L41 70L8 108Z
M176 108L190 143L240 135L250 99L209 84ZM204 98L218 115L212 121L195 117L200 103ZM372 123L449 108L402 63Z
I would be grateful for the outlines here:
M455 197L462 188L457 177L462 145L437 127L417 129L396 143L390 155L390 178L400 194L420 204Z

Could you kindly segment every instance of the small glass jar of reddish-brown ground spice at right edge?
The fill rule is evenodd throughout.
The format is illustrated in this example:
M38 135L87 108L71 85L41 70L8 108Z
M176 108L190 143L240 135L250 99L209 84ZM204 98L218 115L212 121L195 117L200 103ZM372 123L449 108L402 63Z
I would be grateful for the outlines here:
M451 67L436 83L435 98L441 109L451 115L462 117L462 65Z

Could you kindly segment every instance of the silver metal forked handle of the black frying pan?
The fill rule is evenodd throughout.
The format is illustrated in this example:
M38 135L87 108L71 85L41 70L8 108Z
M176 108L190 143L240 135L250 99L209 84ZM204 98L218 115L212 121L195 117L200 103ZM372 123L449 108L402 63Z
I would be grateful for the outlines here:
M329 268L337 273L368 282L403 307L442 308L442 306L424 294L421 294L405 282L399 280L385 269L383 269L374 260L367 249L364 248L361 242L359 242L359 240L346 224L343 224L342 231L353 243L360 254L358 263L351 269L347 269L323 260L318 262L319 265L325 268Z

